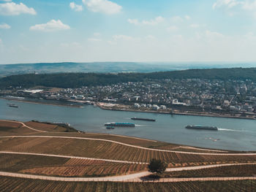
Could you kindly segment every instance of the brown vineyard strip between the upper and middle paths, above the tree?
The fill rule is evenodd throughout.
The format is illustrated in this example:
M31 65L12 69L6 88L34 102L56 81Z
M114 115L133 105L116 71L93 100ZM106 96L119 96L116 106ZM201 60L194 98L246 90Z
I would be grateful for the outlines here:
M139 162L149 162L151 158L158 158L167 161L169 166L177 166L177 164L186 166L256 161L256 155L197 155L171 153L129 147L113 142L84 139L10 137L0 139L0 143L0 150L7 151L75 155L89 158Z

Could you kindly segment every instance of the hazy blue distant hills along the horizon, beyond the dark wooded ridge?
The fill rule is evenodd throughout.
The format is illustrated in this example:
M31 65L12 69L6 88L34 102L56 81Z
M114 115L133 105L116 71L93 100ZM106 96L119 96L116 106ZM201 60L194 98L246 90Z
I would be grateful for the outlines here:
M230 63L140 63L140 62L93 62L93 63L39 63L39 64L9 64L0 65L0 77L12 74L29 73L67 73L67 72L167 72L181 69L232 68L238 66L252 67L256 64Z

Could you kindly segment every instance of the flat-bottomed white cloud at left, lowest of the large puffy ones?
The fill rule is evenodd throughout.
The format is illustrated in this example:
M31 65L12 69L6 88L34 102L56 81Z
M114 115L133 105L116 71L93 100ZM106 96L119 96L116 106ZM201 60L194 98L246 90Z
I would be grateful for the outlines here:
M37 24L29 29L34 31L59 31L70 27L61 22L61 20L50 20L48 23Z

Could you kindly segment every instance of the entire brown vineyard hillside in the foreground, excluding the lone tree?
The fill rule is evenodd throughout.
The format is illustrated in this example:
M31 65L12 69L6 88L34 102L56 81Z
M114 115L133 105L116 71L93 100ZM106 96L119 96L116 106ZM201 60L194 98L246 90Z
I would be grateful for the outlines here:
M150 174L146 172L147 164L138 164L149 162L151 158L166 161L169 168L255 163L254 153L230 154L233 152L173 145L133 137L66 131L51 124L27 122L25 125L0 120L0 172L3 175L0 177L0 191L219 192L255 191L256 188L255 177L250 178L251 180L247 178L247 176L255 176L256 165L225 165L208 169L205 169L206 166L179 168L187 171L177 171L176 168L176 172L165 173L165 179L161 179L165 183L154 183L154 181L148 183L152 181L143 180ZM168 169L170 170L173 169ZM45 176L56 177L46 180ZM109 176L116 176L116 183L107 182L107 180L115 181L114 177L109 178ZM235 176L242 178L231 181L230 178ZM34 180L25 179L31 177L34 177ZM166 177L181 177L181 179L173 180ZM214 177L214 180L219 177L221 181L199 181L206 180L205 177ZM74 182L75 179L77 182ZM120 179L125 182L119 182ZM66 182L50 180L66 180ZM81 180L84 182L80 182ZM88 182L89 180L91 182ZM105 182L95 182L99 180ZM140 183L140 181L144 182Z

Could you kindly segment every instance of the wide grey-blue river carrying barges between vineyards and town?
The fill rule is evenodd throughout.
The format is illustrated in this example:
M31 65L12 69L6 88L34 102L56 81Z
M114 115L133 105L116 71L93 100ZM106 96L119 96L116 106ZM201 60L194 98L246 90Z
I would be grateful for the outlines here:
M7 103L10 102L17 104L18 108L9 107ZM135 121L130 119L133 117L154 118L157 121ZM84 105L83 108L61 107L4 99L0 99L0 119L64 122L80 131L121 134L196 147L256 150L256 120L119 112L91 105ZM136 127L108 130L104 126L108 122L131 122ZM185 128L187 125L218 126L219 131L188 130Z

